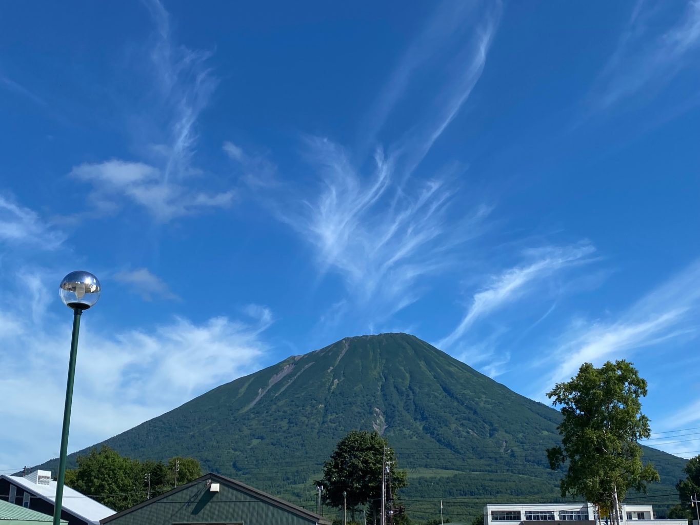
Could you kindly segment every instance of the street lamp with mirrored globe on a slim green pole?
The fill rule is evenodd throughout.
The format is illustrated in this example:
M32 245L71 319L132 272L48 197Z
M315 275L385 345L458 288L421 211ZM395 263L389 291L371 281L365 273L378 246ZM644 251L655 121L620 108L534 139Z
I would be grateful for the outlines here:
M60 525L63 503L63 481L66 476L66 452L68 451L68 430L71 425L71 405L73 405L73 380L76 376L76 356L78 353L78 331L83 310L93 306L99 299L102 286L90 272L71 272L63 278L58 293L64 304L73 309L73 337L71 356L68 362L68 383L66 384L66 405L63 409L63 429L61 432L61 454L58 460L58 481L56 500L53 507L53 525Z

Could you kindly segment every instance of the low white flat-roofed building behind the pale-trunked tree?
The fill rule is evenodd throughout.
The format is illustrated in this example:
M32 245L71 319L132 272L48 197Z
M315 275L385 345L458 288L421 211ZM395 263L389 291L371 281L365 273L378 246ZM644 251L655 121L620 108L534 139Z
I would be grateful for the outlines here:
M590 525L598 519L592 503L514 503L512 505L486 505L484 525L528 525L533 521L555 521L574 525L572 521ZM687 525L685 519L655 519L652 505L622 504L620 524L644 521L644 525ZM534 525L534 524L532 524ZM642 525L642 524L638 524Z

